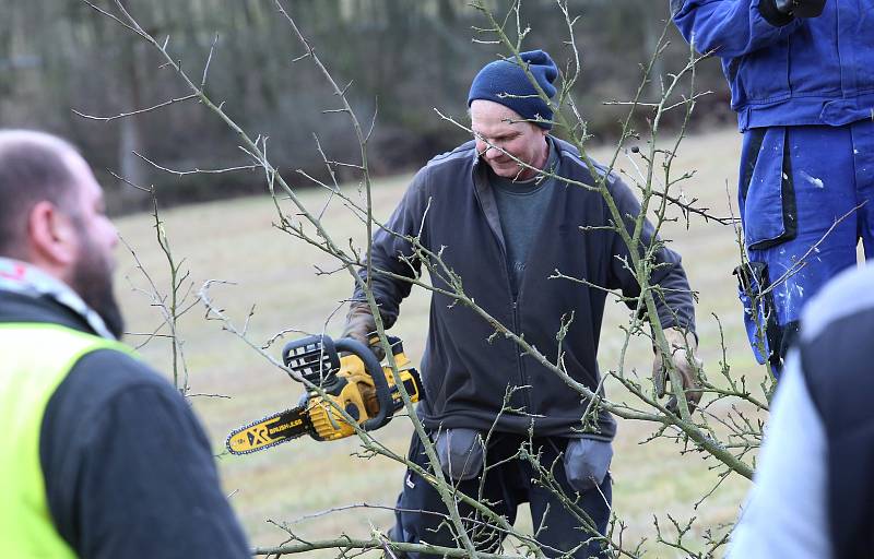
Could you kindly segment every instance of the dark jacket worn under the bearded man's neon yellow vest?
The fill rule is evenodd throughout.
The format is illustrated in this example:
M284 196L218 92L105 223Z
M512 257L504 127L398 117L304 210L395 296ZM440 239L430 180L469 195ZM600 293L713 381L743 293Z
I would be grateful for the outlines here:
M93 333L49 297L0 292L0 323L14 322ZM79 557L250 557L188 403L123 352L73 365L46 405L39 461L51 520Z

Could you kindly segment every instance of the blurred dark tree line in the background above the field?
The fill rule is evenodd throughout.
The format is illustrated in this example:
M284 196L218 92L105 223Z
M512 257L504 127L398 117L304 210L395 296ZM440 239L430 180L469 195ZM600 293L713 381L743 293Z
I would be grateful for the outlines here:
M115 10L108 0L94 3ZM347 119L322 114L338 106L335 98L312 64L294 61L303 51L272 0L123 0L123 4L147 24L146 31L161 40L167 38L169 50L184 67L198 69L193 72L198 75L217 36L208 91L252 135L269 136L269 153L279 168L323 176L314 134L331 159L357 160L358 146ZM391 174L421 166L464 140L464 131L442 121L433 109L462 118L471 79L503 53L494 45L472 40L473 27L483 21L466 0L285 0L285 5L331 72L353 82L349 98L358 114L378 108L368 145L371 171ZM106 170L101 179L113 211L141 209L147 197L117 185L108 171L138 185L154 183L164 203L263 189L262 177L255 173L178 177L132 155L135 151L178 170L248 165L224 124L191 102L110 121L73 112L115 116L187 95L176 76L162 70L154 49L131 33L79 0L0 0L0 122L71 139L95 168ZM510 2L494 0L493 7L500 11ZM576 40L584 57L577 102L595 140L609 141L627 108L602 104L633 97L641 64L650 59L664 28L669 1L570 0L569 7L572 15L580 16ZM522 3L531 27L525 47L548 50L564 67L567 27L556 13L555 0ZM669 36L661 72L682 68L689 55L673 27ZM725 87L714 60L699 67L698 83L717 94L699 103L696 121L729 121ZM650 90L648 96L659 95Z

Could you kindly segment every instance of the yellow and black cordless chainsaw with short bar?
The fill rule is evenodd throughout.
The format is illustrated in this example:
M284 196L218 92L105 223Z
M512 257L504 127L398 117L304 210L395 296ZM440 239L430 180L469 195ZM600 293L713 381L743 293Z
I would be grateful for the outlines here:
M388 340L400 380L410 400L418 402L422 386L418 372L411 367L401 341L393 336ZM226 445L232 454L269 449L304 435L317 441L343 439L354 435L356 426L373 431L389 423L403 407L391 367L381 366L370 348L355 340L331 340L327 335L304 337L285 345L282 360L309 382L306 393L297 407L228 435Z

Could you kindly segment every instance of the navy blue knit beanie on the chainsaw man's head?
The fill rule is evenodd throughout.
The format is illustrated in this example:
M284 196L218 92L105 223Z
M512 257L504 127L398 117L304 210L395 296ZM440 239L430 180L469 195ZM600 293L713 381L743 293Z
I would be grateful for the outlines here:
M555 95L553 82L558 76L558 68L543 50L520 52L519 57L528 64L528 69L540 84L543 92L550 96ZM509 107L520 117L531 120L533 124L550 130L553 110L538 95L525 71L522 70L515 58L496 60L485 66L471 84L468 94L468 107L475 99L486 99ZM534 122L540 115L544 121Z

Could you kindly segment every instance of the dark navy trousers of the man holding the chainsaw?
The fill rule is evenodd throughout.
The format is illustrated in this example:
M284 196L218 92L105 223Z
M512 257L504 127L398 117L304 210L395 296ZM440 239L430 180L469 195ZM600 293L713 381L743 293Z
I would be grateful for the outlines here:
M457 481L458 489L477 498L481 495L482 481L481 502L488 503L495 513L504 516L510 524L516 521L518 506L529 502L535 537L546 557L564 557L564 552L570 550L576 552L567 557L580 559L604 557L602 539L593 538L597 534L587 532L579 515L581 511L582 515L588 516L587 521L591 521L589 525L593 525L598 534L606 532L612 501L610 474L600 487L577 495L567 481L560 457L567 439L534 439L533 451L540 452L541 465L552 472L554 481L562 491L576 501L572 507L575 510L571 511L547 487L548 484L540 481L541 475L534 471L530 462L512 457L523 441L524 439L518 436L493 435L486 450L485 474L466 481ZM430 469L424 445L415 433L410 444L409 457L415 464ZM462 519L465 519L469 528L466 532L477 550L497 549L504 539L504 533L495 528L494 521L487 521L463 502L460 502L458 508ZM408 469L404 475L403 491L398 498L392 539L457 547L459 544L449 527L447 514L446 504L437 490ZM432 556L406 554L406 557L417 559Z

